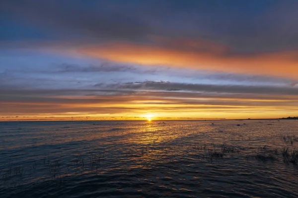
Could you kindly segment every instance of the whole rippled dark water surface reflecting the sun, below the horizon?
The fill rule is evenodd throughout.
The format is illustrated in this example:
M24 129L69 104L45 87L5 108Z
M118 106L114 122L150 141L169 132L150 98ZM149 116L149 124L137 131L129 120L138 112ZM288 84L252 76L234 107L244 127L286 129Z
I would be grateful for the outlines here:
M297 120L0 122L0 198L297 198L297 137Z

